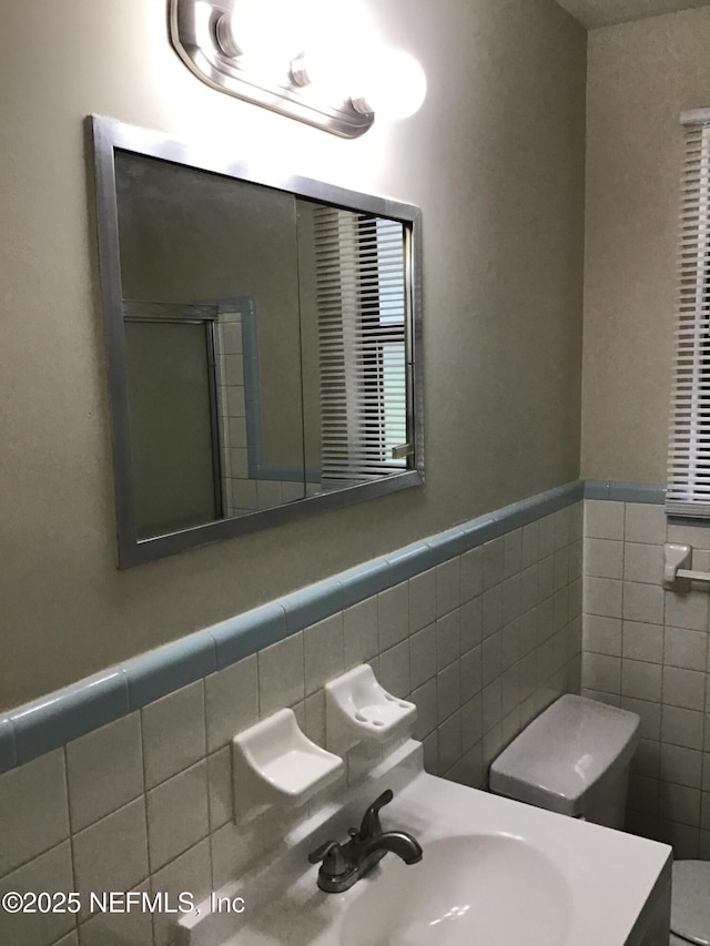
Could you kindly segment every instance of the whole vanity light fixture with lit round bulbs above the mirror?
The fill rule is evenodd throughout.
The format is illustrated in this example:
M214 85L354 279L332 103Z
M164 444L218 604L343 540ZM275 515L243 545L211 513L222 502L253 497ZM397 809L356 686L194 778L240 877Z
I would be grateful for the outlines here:
M357 0L169 2L173 47L199 79L342 138L426 95L419 63L384 45Z

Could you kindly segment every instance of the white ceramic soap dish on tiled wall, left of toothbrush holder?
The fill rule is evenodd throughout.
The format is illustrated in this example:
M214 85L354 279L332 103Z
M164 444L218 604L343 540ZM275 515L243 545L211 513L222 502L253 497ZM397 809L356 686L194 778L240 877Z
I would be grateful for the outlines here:
M343 760L303 734L293 710L232 740L234 820L248 822L270 805L303 805L343 772Z

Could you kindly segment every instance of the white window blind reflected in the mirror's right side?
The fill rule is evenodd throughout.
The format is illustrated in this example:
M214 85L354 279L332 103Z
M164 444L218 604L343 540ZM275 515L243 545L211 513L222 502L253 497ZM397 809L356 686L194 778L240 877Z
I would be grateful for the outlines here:
M336 207L315 217L322 482L342 487L406 469L404 231Z

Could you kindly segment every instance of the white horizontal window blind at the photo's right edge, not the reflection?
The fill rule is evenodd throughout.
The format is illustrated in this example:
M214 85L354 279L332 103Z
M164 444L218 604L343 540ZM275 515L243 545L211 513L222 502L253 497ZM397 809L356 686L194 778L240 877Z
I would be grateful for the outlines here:
M710 517L710 118L686 124L666 509Z

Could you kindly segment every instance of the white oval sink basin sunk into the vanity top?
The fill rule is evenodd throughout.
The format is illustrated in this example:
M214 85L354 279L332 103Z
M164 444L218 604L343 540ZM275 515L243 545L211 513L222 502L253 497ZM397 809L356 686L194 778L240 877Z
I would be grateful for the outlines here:
M545 854L507 834L434 841L405 866L387 857L345 913L342 946L564 946L569 884Z

